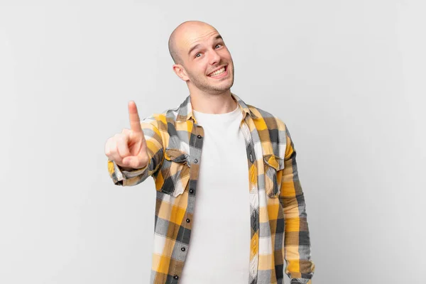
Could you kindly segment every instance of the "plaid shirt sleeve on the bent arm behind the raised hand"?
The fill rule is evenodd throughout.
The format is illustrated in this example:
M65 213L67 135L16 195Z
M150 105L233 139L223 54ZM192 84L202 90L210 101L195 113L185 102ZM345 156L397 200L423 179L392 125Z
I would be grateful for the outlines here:
M143 121L141 121L141 127L148 148L148 165L140 169L127 171L122 170L113 160L108 160L108 172L114 185L138 185L157 172L163 164L163 138L156 126L156 121L153 116L143 119Z

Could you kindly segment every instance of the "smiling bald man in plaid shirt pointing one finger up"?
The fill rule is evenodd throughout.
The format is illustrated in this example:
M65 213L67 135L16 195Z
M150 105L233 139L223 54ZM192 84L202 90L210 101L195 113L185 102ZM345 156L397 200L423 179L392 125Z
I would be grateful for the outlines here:
M310 234L296 152L277 116L231 93L234 62L219 32L187 21L170 35L179 107L108 139L115 185L155 181L150 283L312 283Z

